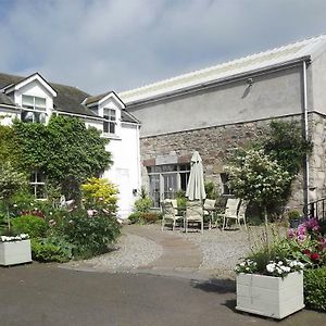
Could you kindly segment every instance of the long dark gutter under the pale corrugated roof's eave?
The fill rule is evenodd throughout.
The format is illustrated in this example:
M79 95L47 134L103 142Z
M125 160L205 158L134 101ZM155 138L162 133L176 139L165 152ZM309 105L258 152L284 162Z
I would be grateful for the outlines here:
M297 66L297 65L299 65L302 62L305 62L308 60L310 61L311 57L310 55L304 55L304 57L301 57L299 59L294 59L294 60L284 62L281 64L278 63L278 64L269 65L267 67L262 67L262 68L252 70L252 71L244 72L244 73L235 74L235 75L229 76L229 77L222 77L220 79L215 79L215 80L211 80L211 82L206 82L206 83L202 83L202 84L198 84L198 85L193 85L193 86L188 86L188 87L185 87L183 89L171 90L171 91L167 91L163 95L162 93L161 95L155 95L155 96L152 96L152 97L147 98L147 99L135 100L135 101L131 101L131 102L128 102L127 100L124 100L124 102L126 103L127 109L129 109L130 106L133 106L133 109L134 109L134 108L140 106L142 104L161 101L162 99L174 98L174 97L184 96L184 95L192 93L192 92L199 92L203 89L210 89L210 88L213 88L213 87L216 87L216 86L223 86L223 85L227 85L227 84L230 84L230 83L234 83L234 82L240 82L240 80L243 80L243 79L246 80L248 77L262 76L262 75L268 74L269 72L278 72L278 71L288 70L288 68Z

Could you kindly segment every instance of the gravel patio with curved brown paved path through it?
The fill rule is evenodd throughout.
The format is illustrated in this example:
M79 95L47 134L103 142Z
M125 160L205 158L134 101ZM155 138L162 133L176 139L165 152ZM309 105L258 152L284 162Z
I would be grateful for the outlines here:
M238 260L255 243L262 227L191 231L161 230L160 225L128 225L113 252L64 266L109 273L150 273L179 277L234 278ZM281 231L281 228L280 228ZM250 236L249 236L250 235Z

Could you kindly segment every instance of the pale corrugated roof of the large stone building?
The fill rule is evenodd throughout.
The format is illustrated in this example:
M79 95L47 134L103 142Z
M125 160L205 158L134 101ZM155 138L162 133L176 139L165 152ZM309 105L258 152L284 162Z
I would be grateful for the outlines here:
M223 80L224 78L230 78L231 76L239 74L283 64L303 57L313 57L325 49L326 35L321 35L288 46L217 64L204 70L123 91L120 92L118 96L126 104L138 102L203 83L220 79Z

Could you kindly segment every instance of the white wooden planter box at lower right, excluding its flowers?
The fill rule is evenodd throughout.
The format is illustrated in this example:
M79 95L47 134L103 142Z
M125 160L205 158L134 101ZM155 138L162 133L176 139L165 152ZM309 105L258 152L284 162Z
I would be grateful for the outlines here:
M303 273L237 276L237 310L281 319L303 308Z

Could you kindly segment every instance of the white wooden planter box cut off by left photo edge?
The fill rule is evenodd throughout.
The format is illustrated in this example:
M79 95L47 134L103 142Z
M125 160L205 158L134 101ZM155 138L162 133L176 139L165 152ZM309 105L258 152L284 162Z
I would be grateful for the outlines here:
M0 242L0 265L15 265L32 262L30 240Z

